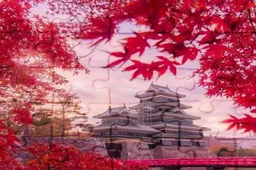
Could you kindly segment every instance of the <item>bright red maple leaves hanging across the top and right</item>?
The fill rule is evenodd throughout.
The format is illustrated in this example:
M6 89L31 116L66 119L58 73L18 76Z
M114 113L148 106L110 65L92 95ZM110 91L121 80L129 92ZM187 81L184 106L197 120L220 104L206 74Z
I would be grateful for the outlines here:
M140 0L98 3L101 5L97 2L83 2L90 6L90 15L87 13L84 20L67 23L76 23L73 29L79 30L76 31L79 38L96 39L93 45L97 45L112 40L122 22L146 28L125 38L125 42L121 42L122 52L109 52L116 60L106 67L133 63L124 68L124 71L134 70L131 79L138 76L151 79L154 72L161 76L168 68L176 75L177 65L198 59L200 65L194 73L200 77L199 84L207 89L206 95L232 98L239 107L255 113L255 1ZM65 3L66 9L76 7L85 12L80 3L82 1L72 6ZM54 8L55 3L48 4L53 11L62 11ZM76 16L78 10L68 15ZM155 56L151 63L143 63L141 56L146 48L163 54ZM134 59L134 56L140 57ZM252 121L246 127L256 132L254 119L250 117ZM243 119L228 122L243 124Z

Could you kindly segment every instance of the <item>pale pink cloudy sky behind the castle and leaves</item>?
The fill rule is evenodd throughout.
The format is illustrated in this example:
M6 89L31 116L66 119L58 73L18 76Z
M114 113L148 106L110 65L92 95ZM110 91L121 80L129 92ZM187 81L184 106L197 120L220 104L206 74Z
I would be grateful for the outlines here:
M34 13L42 14L45 12L45 6L39 6L34 9ZM120 32L145 31L147 28L134 26L132 24L123 23L120 25ZM127 35L126 35L127 36ZM232 100L225 98L207 98L204 93L206 90L199 87L197 84L198 77L192 77L192 72L199 68L199 62L188 61L185 65L180 66L177 75L174 76L170 72L159 77L153 77L150 81L145 81L141 77L130 81L132 72L122 72L122 68L103 68L108 63L109 54L107 52L118 52L122 47L118 40L125 38L123 35L115 35L111 42L101 43L95 47L94 52L90 55L91 60L83 59L89 69L90 74L86 75L80 72L78 75L73 75L73 72L58 72L69 80L67 89L71 89L80 97L83 112L89 117L88 123L99 123L99 119L94 119L92 116L101 114L106 111L109 106L120 107L124 103L127 107L138 104L139 100L134 98L136 93L146 91L151 82L160 86L171 88L172 91L186 95L180 100L185 105L192 106L192 109L185 109L187 114L200 116L201 119L194 121L195 125L211 128L211 131L204 134L213 136L229 136L229 137L246 137L248 133L242 134L236 130L227 131L227 124L220 123L227 118L228 114L241 117L245 112L243 109L237 109L233 105ZM89 46L92 42L83 41L82 44L76 47L76 52L79 56L89 54L92 50ZM107 52L106 52L107 51ZM152 61L152 57L160 54L155 49L145 49L145 54L141 56L144 62ZM136 59L137 56L134 56ZM110 59L113 59L111 57ZM110 60L111 61L111 60Z

